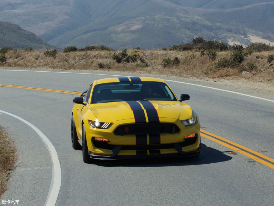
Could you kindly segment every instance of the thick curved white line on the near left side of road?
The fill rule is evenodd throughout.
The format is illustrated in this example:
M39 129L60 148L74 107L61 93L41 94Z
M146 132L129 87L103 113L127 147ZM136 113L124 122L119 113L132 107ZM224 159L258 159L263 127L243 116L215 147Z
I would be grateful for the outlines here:
M48 194L48 198L46 200L45 206L54 206L56 201L57 201L57 197L60 191L60 187L61 187L61 166L60 166L60 162L58 159L58 155L57 152L53 146L53 144L49 141L49 139L43 134L43 132L41 132L36 126L34 126L33 124L29 123L28 121L26 121L25 119L22 119L19 116L16 116L14 114L5 112L0 110L1 113L7 114L9 116L12 116L16 119L19 119L20 121L22 121L23 123L26 123L28 126L30 126L42 139L43 143L46 145L46 148L49 150L49 154L51 157L51 162L53 165L53 170L52 170L52 185L50 185L50 190L49 190L49 194Z

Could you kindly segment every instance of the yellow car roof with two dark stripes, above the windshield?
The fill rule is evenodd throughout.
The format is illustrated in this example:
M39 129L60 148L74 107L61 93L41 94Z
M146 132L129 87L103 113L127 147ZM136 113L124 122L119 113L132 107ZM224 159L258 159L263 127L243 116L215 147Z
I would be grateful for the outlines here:
M164 80L153 77L114 77L99 79L96 84L112 83L112 82L134 82L134 81L150 81L150 82L164 82Z

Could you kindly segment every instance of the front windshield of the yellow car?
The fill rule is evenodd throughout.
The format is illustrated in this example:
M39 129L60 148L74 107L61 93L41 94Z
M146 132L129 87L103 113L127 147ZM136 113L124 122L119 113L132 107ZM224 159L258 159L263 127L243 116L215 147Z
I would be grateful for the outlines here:
M176 101L167 84L162 82L113 82L94 87L92 104L139 100Z

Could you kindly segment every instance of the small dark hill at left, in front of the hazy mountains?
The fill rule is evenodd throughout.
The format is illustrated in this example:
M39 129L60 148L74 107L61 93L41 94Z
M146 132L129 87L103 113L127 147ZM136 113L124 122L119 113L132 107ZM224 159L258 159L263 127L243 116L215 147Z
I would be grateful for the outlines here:
M50 49L49 45L37 35L20 28L18 25L10 22L0 21L0 48L12 47L24 49L33 47L33 49Z

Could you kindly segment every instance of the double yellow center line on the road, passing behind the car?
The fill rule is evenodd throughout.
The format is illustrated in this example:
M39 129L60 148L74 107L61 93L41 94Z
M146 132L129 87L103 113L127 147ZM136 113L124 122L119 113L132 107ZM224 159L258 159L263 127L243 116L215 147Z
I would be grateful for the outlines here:
M14 88L21 88L21 89L29 89L29 90L40 90L40 91L49 91L49 92L58 92L58 93L67 93L67 94L75 94L79 95L81 93L78 92L70 92L70 91L63 91L63 90L52 90L52 89L42 89L42 88L35 88L35 87L23 87L23 86L14 86L14 85L5 85L0 84L0 87L14 87ZM225 147L228 147L229 149L232 149L236 152L239 152L257 162L262 163L263 165L266 165L272 169L274 169L274 159L271 159L259 152L253 151L252 149L249 149L247 147L241 146L235 142L231 142L228 139L225 139L223 137L217 136L215 134L212 134L210 132L207 132L205 130L201 129L201 136L205 137L207 139L210 139L214 142L217 142L220 145L223 145Z

